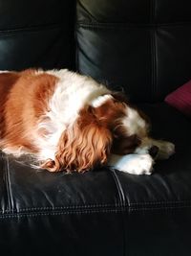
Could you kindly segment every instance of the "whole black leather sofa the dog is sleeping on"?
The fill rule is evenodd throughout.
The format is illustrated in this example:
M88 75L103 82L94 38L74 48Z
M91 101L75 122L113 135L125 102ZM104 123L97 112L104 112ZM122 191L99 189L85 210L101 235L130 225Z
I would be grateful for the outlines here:
M164 97L191 78L189 0L0 0L0 69L69 68L123 88L176 144L155 174L32 170L1 153L1 255L190 256L191 120Z

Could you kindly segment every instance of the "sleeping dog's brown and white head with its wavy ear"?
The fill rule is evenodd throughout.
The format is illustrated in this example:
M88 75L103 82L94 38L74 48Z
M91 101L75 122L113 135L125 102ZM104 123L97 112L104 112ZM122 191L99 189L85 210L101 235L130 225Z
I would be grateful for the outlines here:
M59 139L55 159L43 168L85 172L107 163L110 153L134 152L147 136L149 122L117 94L98 97L79 112Z

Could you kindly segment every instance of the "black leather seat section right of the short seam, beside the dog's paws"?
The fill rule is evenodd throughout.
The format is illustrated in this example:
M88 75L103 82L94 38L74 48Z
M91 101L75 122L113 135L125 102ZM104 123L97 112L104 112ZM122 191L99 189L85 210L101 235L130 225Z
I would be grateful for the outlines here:
M126 175L117 172L130 210L191 206L191 121L165 103L140 105L152 122L152 136L173 142L176 153L158 161L155 173Z

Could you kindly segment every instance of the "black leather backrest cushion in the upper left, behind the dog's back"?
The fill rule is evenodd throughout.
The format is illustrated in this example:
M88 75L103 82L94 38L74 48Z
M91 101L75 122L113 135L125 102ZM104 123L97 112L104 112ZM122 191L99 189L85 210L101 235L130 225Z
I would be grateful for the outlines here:
M0 69L74 67L74 1L0 1Z

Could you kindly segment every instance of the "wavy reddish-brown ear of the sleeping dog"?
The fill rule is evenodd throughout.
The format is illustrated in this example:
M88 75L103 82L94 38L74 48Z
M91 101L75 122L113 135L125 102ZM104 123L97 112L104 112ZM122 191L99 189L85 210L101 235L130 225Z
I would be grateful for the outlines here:
M55 171L60 168L80 173L104 164L111 145L111 131L99 124L91 109L81 111L74 125L60 137Z

